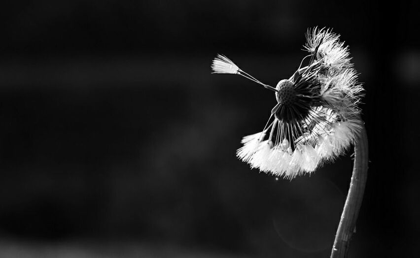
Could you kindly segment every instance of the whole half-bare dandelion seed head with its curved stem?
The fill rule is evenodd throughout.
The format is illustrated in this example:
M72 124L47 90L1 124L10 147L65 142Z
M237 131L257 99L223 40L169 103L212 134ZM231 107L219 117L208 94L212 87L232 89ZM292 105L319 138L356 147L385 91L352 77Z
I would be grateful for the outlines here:
M349 47L330 29L309 29L297 71L276 87L261 83L229 58L217 55L213 73L239 74L275 91L277 104L261 132L245 136L237 156L251 168L292 179L314 172L355 144L349 195L331 257L344 257L363 197L367 172L367 137L358 104L363 87ZM308 58L309 57L309 58ZM308 61L309 59L309 61ZM302 67L304 61L307 65Z

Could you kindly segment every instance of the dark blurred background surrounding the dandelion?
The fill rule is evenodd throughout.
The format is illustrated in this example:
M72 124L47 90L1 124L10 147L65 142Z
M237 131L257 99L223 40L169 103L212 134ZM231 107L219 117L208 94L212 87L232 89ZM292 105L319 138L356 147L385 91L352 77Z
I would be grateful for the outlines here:
M368 182L350 257L418 257L417 1L2 3L0 257L328 257L350 154L278 180L237 160L308 28L350 45Z

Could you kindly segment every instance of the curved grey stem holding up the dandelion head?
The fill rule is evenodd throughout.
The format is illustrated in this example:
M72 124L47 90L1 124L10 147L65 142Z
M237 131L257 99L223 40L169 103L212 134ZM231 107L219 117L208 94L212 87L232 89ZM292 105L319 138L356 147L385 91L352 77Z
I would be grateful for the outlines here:
M362 122L363 124L363 122ZM350 189L341 214L340 224L331 251L331 258L346 258L349 242L356 229L356 220L365 191L368 169L368 140L363 125L357 141L354 143L354 165Z

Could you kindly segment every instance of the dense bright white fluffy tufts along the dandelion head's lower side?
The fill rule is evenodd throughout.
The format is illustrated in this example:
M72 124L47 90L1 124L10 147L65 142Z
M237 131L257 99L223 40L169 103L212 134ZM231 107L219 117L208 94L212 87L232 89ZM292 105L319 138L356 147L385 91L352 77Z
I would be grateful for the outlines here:
M313 108L310 113L310 118L302 123L305 126L290 129L307 130L307 126L311 126L311 133L294 140L294 149L286 138L275 141L275 144L270 140L262 141L265 132L260 132L243 138L244 145L238 149L237 156L251 168L292 179L314 172L323 163L343 154L360 133L360 120L341 121L339 115L322 106ZM267 130L277 123L284 122L273 122ZM277 134L273 139L287 137L281 135L281 130Z

